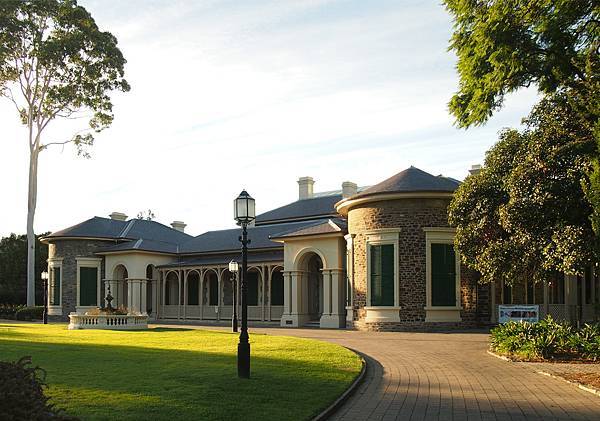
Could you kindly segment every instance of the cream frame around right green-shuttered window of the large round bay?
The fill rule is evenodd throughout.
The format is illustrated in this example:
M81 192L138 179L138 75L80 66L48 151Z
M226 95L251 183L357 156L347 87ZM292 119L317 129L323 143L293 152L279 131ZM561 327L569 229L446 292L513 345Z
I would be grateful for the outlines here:
M425 227L425 276L426 276L426 322L459 322L462 310L460 295L460 255L455 250L455 282L456 282L456 304L453 306L434 306L431 304L431 245L449 244L454 245L456 229L450 227Z

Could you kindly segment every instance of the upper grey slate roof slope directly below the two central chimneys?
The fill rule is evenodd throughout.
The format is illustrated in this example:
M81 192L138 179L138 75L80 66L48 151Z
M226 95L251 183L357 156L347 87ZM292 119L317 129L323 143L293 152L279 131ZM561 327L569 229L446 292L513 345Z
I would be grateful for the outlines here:
M342 200L341 194L297 200L288 205L258 215L256 217L256 225L286 219L316 219L319 217L336 216L337 213L334 205L340 200Z

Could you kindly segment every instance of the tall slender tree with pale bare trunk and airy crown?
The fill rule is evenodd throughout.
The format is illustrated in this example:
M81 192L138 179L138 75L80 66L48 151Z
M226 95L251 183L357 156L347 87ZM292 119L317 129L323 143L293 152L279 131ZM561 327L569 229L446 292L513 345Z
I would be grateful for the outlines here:
M89 157L94 132L113 120L109 93L128 91L125 59L116 38L101 31L75 0L0 1L0 96L16 107L27 129L27 304L34 301L35 235L39 153L72 144ZM42 142L56 119L84 118L87 126L63 140Z

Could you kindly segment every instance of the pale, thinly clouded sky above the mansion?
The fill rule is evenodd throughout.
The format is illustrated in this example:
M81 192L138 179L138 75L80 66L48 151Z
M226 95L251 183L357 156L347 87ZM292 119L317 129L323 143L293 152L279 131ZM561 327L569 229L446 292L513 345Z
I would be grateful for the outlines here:
M509 96L484 126L458 129L452 19L423 1L80 0L127 59L128 93L91 159L40 155L37 233L113 211L231 228L246 189L257 212L343 181L376 184L414 165L463 179L537 99ZM56 122L46 142L69 138ZM0 236L25 233L28 146L0 98Z

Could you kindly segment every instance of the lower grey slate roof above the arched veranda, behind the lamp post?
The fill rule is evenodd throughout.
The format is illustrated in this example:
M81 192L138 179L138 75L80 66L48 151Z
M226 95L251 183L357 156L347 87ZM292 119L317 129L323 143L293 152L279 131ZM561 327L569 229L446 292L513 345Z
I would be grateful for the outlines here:
M277 234L288 232L290 230L296 231L319 222L323 221L297 221L249 227L248 238L250 238L251 242L248 248L258 249L281 247L281 244L271 241L270 237L276 237ZM194 254L237 250L240 248L240 242L238 240L240 235L241 228L208 231L184 243L180 247L179 251L182 254Z

